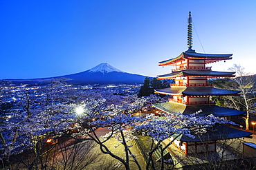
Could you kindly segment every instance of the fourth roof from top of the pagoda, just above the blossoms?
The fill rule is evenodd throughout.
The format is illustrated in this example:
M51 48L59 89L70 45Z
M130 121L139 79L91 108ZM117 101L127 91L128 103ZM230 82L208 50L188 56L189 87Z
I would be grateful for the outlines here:
M181 103L166 102L166 103L153 103L157 109L164 111L167 114L181 113L185 115L194 114L196 111L201 110L198 116L208 116L210 114L218 117L224 116L237 116L245 114L246 111L239 111L235 109L228 109L219 107L217 105L182 105Z

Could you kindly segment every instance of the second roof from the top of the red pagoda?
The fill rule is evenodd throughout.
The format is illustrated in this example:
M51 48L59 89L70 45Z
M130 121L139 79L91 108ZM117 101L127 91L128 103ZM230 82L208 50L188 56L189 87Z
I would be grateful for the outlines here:
M182 70L157 76L158 79L172 79L177 76L201 76L201 77L234 77L235 72L217 72L212 70Z

